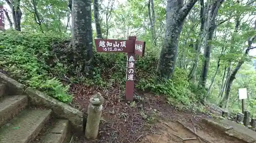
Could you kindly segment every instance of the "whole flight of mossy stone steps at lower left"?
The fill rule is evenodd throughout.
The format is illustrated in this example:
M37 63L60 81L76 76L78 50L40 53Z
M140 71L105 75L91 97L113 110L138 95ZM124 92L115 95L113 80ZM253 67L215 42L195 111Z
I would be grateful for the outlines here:
M6 88L0 82L0 143L72 142L68 119L59 119L54 109L35 107L26 94L9 95Z

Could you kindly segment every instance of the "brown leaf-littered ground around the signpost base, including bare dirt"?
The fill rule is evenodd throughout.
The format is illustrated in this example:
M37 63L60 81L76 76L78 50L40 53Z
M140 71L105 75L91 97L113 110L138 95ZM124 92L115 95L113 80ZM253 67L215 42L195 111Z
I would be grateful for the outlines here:
M102 122L97 140L74 138L74 142L142 142L142 143L239 143L241 140L227 136L218 129L204 124L205 113L179 111L160 96L138 93L144 100L126 103L122 101L120 89L101 90L73 84L72 105L87 112L91 95L100 92L105 101Z

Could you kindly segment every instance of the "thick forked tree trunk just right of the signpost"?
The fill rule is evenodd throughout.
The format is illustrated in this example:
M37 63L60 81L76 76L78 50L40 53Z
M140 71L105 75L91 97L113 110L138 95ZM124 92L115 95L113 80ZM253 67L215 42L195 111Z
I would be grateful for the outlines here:
M196 2L197 0L190 0L183 6L182 0L167 0L166 31L158 63L158 72L165 79L174 74L183 22Z

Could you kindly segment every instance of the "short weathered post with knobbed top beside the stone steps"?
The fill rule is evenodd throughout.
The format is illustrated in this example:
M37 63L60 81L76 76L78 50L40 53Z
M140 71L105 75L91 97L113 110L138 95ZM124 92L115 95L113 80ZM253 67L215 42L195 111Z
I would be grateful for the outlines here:
M93 95L90 98L88 106L88 117L86 123L86 138L96 139L99 131L99 123L101 119L102 103L104 98L100 93Z

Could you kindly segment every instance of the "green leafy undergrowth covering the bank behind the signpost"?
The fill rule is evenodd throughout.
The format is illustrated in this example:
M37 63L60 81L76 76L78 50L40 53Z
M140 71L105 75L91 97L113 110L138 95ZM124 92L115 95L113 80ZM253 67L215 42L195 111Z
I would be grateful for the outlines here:
M1 33L0 66L19 82L66 103L72 101L72 95L68 93L71 83L124 88L126 54L94 51L92 72L74 75L68 50L63 50L69 48L67 39L51 33ZM191 107L199 103L200 93L194 90L193 83L187 81L185 71L177 68L172 80L161 80L156 76L157 56L154 53L146 53L136 59L137 90L164 95L173 105L182 103Z

